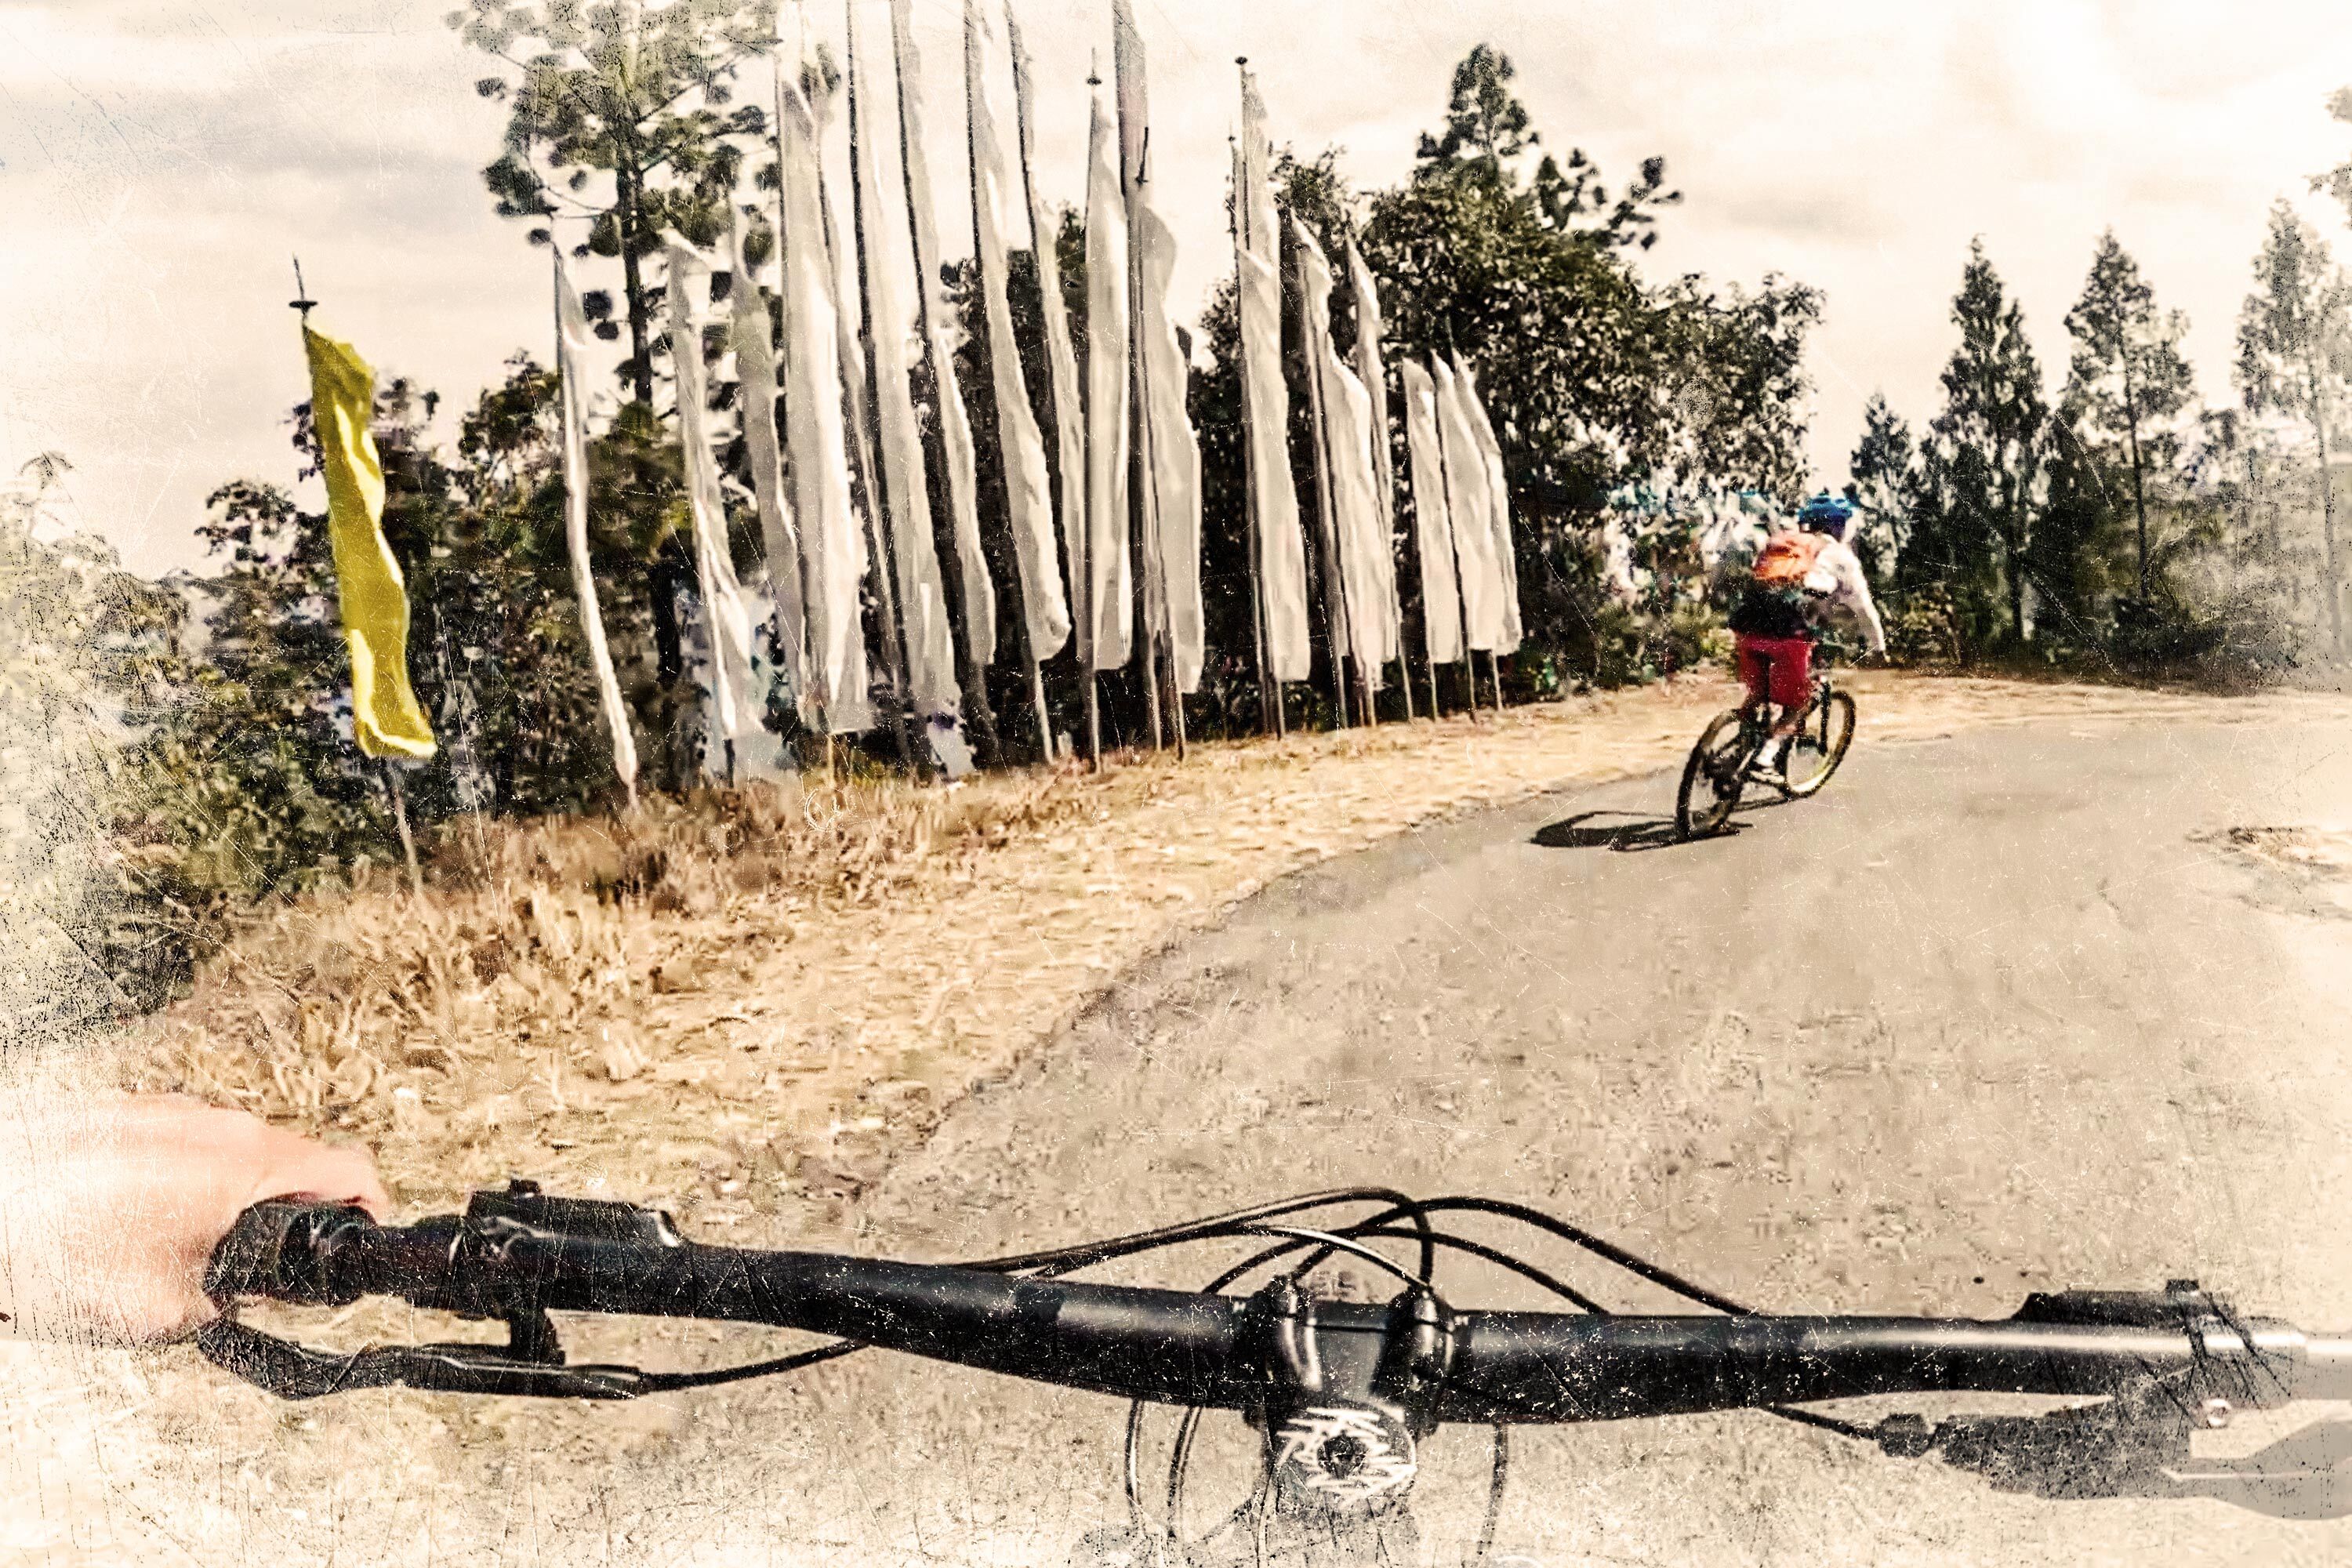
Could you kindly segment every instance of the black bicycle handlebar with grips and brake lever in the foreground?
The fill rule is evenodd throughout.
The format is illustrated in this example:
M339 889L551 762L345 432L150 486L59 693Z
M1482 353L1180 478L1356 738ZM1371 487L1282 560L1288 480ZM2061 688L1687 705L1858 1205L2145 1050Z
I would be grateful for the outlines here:
M2241 1319L2176 1281L2164 1293L2034 1295L2011 1319L1595 1316L1454 1312L1416 1284L1392 1302L1305 1300L1277 1281L1214 1295L687 1241L668 1215L548 1199L524 1182L466 1215L386 1227L358 1208L261 1204L214 1255L219 1300L348 1305L395 1295L503 1319L506 1347L327 1356L233 1321L214 1361L289 1396L414 1387L626 1399L696 1375L569 1366L548 1312L694 1316L837 1335L1122 1399L1232 1408L1270 1422L1312 1401L1439 1422L1585 1422L1863 1394L2117 1394L2190 1401L2352 1399L2352 1338ZM783 1371L771 1363L755 1371Z

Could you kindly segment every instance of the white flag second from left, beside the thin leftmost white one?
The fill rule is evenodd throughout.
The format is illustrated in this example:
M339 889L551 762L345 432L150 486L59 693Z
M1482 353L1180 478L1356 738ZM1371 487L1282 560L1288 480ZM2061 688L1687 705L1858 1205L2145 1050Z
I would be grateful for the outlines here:
M687 515L694 524L694 576L703 599L703 646L710 677L710 741L703 769L720 773L720 741L760 733L760 691L750 670L753 616L727 552L727 501L720 458L710 449L710 376L703 322L710 315L710 266L682 237L663 235L670 261L670 369L677 378L677 442L687 456Z

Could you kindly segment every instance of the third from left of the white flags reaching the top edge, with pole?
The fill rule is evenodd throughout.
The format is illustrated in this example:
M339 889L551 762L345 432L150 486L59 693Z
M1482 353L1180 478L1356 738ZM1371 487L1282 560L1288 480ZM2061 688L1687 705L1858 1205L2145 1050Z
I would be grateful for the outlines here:
M1021 374L1021 343L1004 296L1004 141L988 103L988 19L978 0L964 0L964 129L971 160L971 252L981 268L981 301L988 317L988 371L997 404L997 451L1004 463L1004 524L1021 567L1021 663L1028 668L1030 703L1037 710L1037 755L1054 762L1054 719L1044 705L1040 661L1070 639L1070 609L1061 597L1061 557L1054 541L1054 480L1047 473L1044 437L1030 409Z

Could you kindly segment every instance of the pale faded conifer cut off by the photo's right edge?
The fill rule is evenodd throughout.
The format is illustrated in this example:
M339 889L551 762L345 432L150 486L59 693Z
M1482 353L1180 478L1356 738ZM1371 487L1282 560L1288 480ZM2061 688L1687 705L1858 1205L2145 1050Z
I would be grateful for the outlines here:
M2237 378L2256 414L2300 421L2317 444L2319 597L2328 646L2345 649L2343 564L2336 555L2336 480L2328 437L2345 407L2352 371L2352 284L2336 270L2326 242L2284 200L2253 259L2253 292L2237 317Z

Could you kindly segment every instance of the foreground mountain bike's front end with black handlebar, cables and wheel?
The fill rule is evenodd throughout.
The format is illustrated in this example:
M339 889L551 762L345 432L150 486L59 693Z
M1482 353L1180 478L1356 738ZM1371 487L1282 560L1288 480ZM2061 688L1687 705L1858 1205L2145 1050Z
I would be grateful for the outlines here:
M1564 1241L1698 1312L1611 1314L1510 1246L1463 1234L1465 1218ZM1192 1244L1244 1255L1202 1291L1068 1279ZM1508 1269L1573 1312L1465 1309L1437 1281L1439 1255ZM1322 1300L1327 1265L1376 1269L1395 1295ZM1254 1276L1247 1293L1228 1293ZM1348 1187L1110 1241L929 1265L703 1246L666 1213L513 1182L475 1192L461 1215L416 1225L261 1204L216 1251L207 1288L230 1307L240 1298L348 1305L393 1295L508 1331L506 1345L350 1354L266 1335L233 1309L202 1331L214 1363L287 1399L386 1385L635 1399L790 1373L866 1347L1127 1399L1127 1526L1077 1544L1073 1561L1089 1566L1418 1563L1418 1450L1444 1425L1494 1434L1475 1563L1491 1552L1512 1427L1740 1408L1891 1455L1940 1453L1997 1488L2042 1497L2223 1495L2265 1512L2352 1512L2331 1483L2340 1443L2288 1439L2237 1465L2190 1453L2190 1434L2232 1410L2352 1399L2352 1335L2241 1316L2192 1279L2150 1293L2037 1293L2006 1319L1776 1316L1538 1208L1482 1197ZM553 1312L774 1324L830 1342L696 1373L583 1366L564 1359ZM2098 1403L1872 1425L1806 1408L1966 1392ZM1157 1509L1138 1462L1150 1406L1183 1410ZM1256 1429L1256 1488L1214 1530L1183 1537L1185 1476L1207 1410L1235 1410Z

